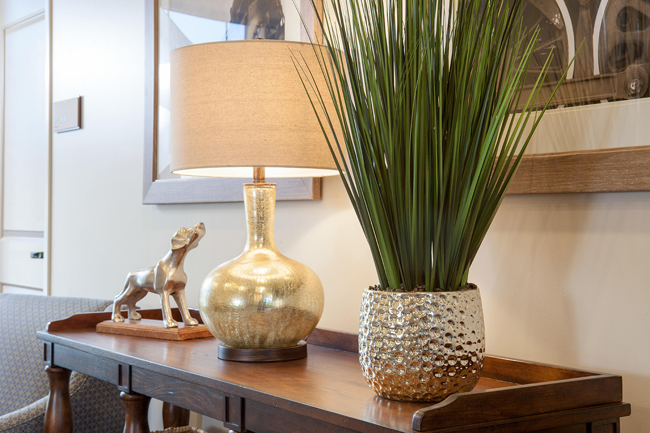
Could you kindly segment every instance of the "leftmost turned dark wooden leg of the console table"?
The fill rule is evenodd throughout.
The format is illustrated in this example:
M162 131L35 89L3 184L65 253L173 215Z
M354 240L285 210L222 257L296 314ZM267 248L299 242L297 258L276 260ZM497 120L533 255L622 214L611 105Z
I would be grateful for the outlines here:
M49 399L45 409L45 433L72 433L70 373L61 367L45 367L49 378Z

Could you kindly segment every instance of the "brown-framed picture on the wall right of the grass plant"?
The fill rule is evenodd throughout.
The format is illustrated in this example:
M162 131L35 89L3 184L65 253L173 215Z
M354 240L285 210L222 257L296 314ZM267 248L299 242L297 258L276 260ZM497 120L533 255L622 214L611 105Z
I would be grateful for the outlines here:
M650 1L525 0L524 16L531 78L554 53L540 100L575 61L508 193L650 190Z

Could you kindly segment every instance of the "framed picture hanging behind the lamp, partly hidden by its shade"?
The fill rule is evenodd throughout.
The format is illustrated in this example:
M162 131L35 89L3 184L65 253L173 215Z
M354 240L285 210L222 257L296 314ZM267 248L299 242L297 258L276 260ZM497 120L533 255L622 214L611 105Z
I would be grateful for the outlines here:
M145 131L142 203L240 202L246 179L181 177L170 172L170 52L238 39L320 40L310 0L146 0ZM300 12L298 9L300 8ZM300 15L305 20L303 25ZM307 27L305 29L305 27ZM309 33L309 34L308 34ZM268 179L278 200L320 200L320 178Z

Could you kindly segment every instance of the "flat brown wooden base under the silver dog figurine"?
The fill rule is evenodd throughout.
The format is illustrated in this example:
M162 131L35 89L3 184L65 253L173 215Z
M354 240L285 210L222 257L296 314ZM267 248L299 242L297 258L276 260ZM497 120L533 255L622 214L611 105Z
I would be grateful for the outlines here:
M97 332L105 334L131 335L162 340L182 341L194 338L212 337L203 324L186 325L179 322L174 328L166 328L164 321L155 319L124 319L123 322L103 321L96 327Z

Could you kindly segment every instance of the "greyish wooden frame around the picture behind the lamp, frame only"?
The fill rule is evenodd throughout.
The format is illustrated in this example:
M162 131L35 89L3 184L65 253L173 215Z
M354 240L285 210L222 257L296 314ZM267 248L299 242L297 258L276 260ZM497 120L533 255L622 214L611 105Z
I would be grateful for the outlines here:
M300 3L304 1L302 0ZM247 181L246 179L224 177L157 179L159 0L145 0L144 3L145 96L142 203L242 202L244 200L242 185ZM322 8L322 4L320 6ZM309 17L305 17L306 19ZM315 29L317 28L315 26ZM320 177L287 177L267 180L278 184L277 200L320 200Z

